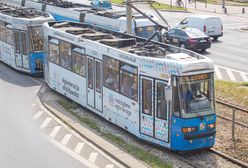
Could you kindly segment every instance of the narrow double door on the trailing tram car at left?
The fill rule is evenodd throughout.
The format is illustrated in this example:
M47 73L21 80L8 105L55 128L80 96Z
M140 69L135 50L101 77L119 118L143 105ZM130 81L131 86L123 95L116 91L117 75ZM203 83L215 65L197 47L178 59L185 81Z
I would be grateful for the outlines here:
M14 31L15 35L15 63L17 67L29 69L27 34L22 31Z

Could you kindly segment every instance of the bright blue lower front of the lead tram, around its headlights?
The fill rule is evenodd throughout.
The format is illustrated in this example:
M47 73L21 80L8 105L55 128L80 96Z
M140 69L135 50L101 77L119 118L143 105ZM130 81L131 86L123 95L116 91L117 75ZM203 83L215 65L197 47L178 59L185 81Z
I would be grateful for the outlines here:
M207 125L215 122L216 114L189 119L173 116L171 122L171 149L190 151L211 148L215 144L216 128L207 129ZM196 132L183 133L183 127L197 127L198 129Z

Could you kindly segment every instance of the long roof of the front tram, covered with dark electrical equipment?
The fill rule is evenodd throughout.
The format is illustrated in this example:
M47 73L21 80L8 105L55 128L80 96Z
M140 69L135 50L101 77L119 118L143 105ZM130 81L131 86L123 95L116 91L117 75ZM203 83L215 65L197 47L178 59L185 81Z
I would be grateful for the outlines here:
M154 41L151 41L147 45L143 46L143 43L146 41L144 38L103 29L91 24L76 22L52 22L48 24L54 29L80 38L81 41L84 41L84 39L97 41L101 44L118 48L136 55L166 57L171 53L180 52L180 58L178 59L181 60L197 60L205 58L204 56L193 51L183 50L175 46ZM167 58L177 59L172 56L167 56Z

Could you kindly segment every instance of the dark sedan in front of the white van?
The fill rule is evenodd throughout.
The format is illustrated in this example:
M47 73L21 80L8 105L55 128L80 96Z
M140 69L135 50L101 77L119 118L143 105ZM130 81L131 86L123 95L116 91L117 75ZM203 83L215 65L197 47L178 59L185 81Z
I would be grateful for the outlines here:
M163 35L168 44L194 51L211 47L210 37L196 28L173 28Z

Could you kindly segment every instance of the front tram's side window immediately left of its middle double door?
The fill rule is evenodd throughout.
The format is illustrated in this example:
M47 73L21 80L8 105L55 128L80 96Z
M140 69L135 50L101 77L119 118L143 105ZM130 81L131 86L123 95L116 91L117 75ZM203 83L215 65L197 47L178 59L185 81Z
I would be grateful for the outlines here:
M85 68L86 68L86 57L79 54L78 52L72 52L72 65L73 72L85 76Z

